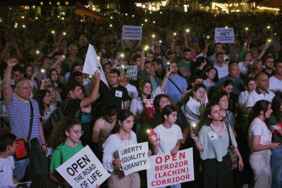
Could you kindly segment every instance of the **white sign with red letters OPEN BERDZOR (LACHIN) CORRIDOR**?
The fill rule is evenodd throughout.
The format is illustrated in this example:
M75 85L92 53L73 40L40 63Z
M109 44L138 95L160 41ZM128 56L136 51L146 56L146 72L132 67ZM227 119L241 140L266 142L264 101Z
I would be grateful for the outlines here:
M178 151L150 157L151 168L147 170L147 187L166 187L195 179L193 150Z

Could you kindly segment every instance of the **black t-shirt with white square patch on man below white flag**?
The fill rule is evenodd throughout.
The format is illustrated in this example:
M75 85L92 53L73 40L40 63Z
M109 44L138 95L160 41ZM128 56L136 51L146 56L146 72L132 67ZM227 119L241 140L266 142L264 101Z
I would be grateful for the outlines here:
M106 104L115 104L118 108L121 109L121 105L123 101L129 101L130 96L128 94L128 90L118 85L118 87L107 87L104 82L100 81L99 85L99 99L95 102L97 109L99 111L103 109Z

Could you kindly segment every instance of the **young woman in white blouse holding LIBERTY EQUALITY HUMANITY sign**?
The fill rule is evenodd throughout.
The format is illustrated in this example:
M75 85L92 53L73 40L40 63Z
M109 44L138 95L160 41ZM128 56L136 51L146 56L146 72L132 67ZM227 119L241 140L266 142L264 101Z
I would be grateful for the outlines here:
M133 113L121 110L118 113L116 126L103 144L103 165L111 173L109 188L139 188L140 176L132 173L125 176L121 169L121 159L118 149L123 146L137 144L136 134L131 130L133 127Z

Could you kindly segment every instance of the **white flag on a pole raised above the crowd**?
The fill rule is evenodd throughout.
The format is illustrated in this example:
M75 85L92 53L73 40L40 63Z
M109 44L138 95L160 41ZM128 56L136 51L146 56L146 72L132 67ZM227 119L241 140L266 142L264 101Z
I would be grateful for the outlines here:
M106 81L106 76L104 75L102 65L100 64L96 51L94 47L91 44L89 44L82 73L93 75L96 71L100 73L101 80L109 87L109 84Z

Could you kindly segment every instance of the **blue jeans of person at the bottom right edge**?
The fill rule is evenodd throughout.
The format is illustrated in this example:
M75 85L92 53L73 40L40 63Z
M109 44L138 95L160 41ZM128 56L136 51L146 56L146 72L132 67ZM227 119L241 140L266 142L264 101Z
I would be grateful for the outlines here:
M282 187L282 146L272 152L270 159L272 188Z

